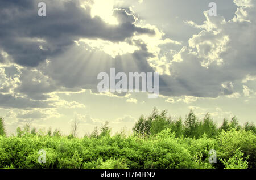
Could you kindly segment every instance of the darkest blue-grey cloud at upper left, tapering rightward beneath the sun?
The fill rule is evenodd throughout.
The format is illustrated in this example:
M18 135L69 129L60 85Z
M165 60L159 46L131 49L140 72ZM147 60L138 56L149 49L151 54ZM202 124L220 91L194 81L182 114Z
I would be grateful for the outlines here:
M46 58L63 53L79 38L123 41L135 32L154 34L151 29L135 26L133 16L122 10L115 13L122 22L113 26L97 16L92 19L90 8L85 11L79 1L44 1L47 16L38 16L39 2L0 2L0 47L22 66L38 66Z

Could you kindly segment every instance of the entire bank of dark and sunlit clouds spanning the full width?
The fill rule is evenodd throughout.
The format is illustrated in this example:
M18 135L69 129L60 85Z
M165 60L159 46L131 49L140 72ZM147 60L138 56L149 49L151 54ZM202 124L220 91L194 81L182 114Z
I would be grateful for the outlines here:
M1 2L1 106L84 108L54 92L98 93L97 75L111 67L126 74L159 72L160 95L185 103L196 97L238 97L234 83L256 76L253 1L234 1L237 12L229 21L207 11L203 24L187 21L200 31L187 42L172 40L129 8L114 7L111 16L118 24L109 24L100 14L92 16L90 1L81 6L80 1L47 0L46 17L36 14L38 2ZM19 68L3 67L7 63Z

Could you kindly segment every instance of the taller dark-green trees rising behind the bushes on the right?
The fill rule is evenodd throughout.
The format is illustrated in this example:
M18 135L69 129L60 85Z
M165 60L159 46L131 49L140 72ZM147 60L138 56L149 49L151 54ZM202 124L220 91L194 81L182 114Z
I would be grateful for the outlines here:
M135 134L150 136L158 134L158 132L170 128L172 132L175 132L176 137L191 137L199 138L202 135L207 135L209 138L220 134L222 130L230 131L232 129L252 131L256 134L256 127L254 123L246 122L243 126L238 123L238 119L233 117L230 121L224 118L221 127L217 127L216 122L210 117L210 114L205 114L203 120L199 120L193 110L190 110L186 115L185 121L180 117L173 119L167 116L167 110L158 112L156 108L148 117L143 115L139 118L138 122L133 127Z

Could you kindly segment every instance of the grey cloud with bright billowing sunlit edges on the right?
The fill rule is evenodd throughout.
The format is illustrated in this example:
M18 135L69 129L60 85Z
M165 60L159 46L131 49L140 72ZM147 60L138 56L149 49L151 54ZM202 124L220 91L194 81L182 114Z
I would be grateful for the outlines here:
M201 29L189 39L189 45L170 58L170 76L163 75L166 85L159 92L166 96L218 97L232 95L226 83L246 82L256 75L254 1L234 1L237 12L226 21L222 16L209 16L193 27ZM248 78L248 77L247 77ZM242 84L236 84L241 85Z

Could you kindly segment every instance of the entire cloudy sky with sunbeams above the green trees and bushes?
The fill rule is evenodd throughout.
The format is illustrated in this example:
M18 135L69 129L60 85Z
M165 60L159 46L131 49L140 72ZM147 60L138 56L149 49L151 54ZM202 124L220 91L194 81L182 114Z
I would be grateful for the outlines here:
M39 2L46 16L39 16ZM210 16L209 3L217 5ZM256 122L256 1L0 0L0 117L79 136L127 131L156 107ZM101 72L159 74L159 96L99 92Z

